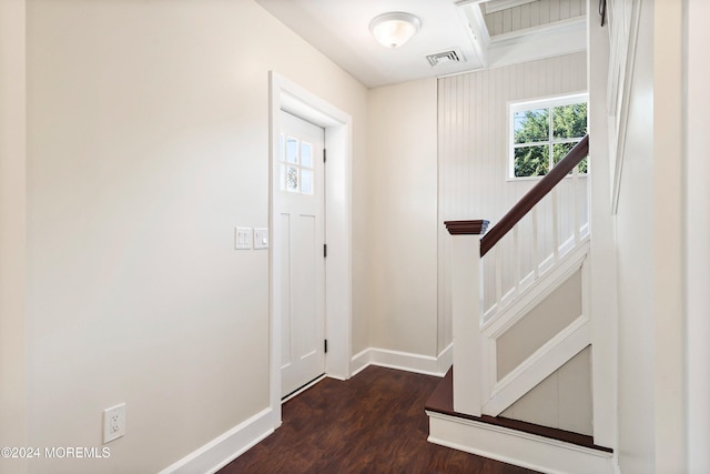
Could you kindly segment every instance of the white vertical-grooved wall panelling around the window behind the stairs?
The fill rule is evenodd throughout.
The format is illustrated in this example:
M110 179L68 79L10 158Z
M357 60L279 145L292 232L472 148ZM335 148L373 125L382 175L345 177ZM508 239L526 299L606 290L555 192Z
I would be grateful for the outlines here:
M495 225L537 182L507 180L509 103L586 90L587 58L584 52L439 79L439 351L452 342L450 238L443 222L489 219ZM587 180L580 178L579 181L586 184ZM562 209L567 201L572 201L572 191L567 189L569 183L571 179L566 179L558 191L560 201L565 201ZM584 194L586 202L586 191L577 192ZM550 210L548 196L537 212L537 245L544 255L552 250L548 241L552 225ZM586 210L580 219L587 219ZM574 216L570 215L560 219L560 242L562 234L574 233L571 222ZM523 222L519 239L531 232L531 222ZM504 240L501 245L511 243ZM532 265L531 248L529 252L524 256L521 272ZM495 299L490 290L490 282L496 278L495 269L490 268L491 260L488 255L484 259L486 305ZM510 273L505 266L504 272ZM504 279L507 282L511 276ZM514 283L507 284L511 288Z

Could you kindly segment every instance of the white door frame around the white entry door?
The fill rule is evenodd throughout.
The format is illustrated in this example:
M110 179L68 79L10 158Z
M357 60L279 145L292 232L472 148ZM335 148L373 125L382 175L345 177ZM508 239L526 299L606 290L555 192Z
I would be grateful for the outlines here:
M352 357L352 242L351 242L351 155L353 119L321 98L271 71L270 93L270 405L273 427L281 425L281 303L278 288L280 235L274 233L274 204L278 192L278 134L282 110L325 130L325 235L328 256L325 259L325 374L346 380L351 376Z

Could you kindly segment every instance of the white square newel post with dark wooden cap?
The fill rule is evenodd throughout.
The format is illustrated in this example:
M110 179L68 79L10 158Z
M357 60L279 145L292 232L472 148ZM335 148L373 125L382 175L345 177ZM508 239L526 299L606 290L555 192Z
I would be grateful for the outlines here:
M452 234L454 411L480 416L480 235L488 221L444 225Z

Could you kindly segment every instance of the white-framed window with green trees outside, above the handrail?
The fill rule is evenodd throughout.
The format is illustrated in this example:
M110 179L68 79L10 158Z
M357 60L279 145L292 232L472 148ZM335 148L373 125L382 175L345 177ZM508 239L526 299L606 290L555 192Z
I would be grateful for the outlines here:
M587 134L587 94L510 104L508 177L542 177ZM587 158L579 173L587 173Z

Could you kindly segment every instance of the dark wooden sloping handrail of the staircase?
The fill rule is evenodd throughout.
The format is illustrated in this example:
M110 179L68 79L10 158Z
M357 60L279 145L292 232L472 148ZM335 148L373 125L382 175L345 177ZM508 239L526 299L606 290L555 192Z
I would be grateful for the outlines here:
M506 215L494 225L490 231L480 239L480 256L484 256L503 239L525 215L530 212L535 204L540 202L552 188L578 165L589 153L589 135L585 135L579 143L572 148L552 169L528 191Z

